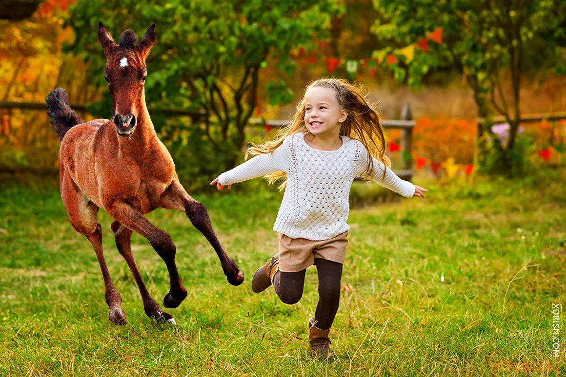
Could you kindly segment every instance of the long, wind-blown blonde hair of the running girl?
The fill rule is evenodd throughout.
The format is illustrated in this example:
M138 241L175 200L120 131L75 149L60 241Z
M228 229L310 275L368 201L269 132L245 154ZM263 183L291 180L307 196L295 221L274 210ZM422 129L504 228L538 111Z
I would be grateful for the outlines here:
M370 176L374 168L371 157L375 157L378 161L383 162L385 166L391 167L391 161L385 155L385 136L383 127L379 122L379 114L374 107L368 104L365 94L366 90L361 85L351 85L348 81L342 79L320 79L312 81L306 90L310 88L334 90L336 102L342 109L348 111L348 117L342 122L340 127L340 135L360 141L367 149L367 166L362 175L364 179ZM299 132L310 133L305 125L305 96L297 105L297 112L295 112L293 121L282 128L273 140L267 141L264 144L252 143L250 148L246 150L246 159L253 155L271 153L283 144L285 137ZM284 179L280 187L281 189L287 183L286 174L282 171L273 172L265 177L267 177L269 184ZM385 171L383 172L382 179L384 178Z

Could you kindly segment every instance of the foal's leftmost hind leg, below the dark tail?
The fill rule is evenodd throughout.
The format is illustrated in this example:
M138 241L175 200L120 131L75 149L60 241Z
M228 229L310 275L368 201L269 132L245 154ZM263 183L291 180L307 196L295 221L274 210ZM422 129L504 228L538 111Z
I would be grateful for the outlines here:
M96 221L98 207L91 201L85 202L85 196L79 187L70 176L64 174L61 180L61 198L72 227L86 236L95 249L102 278L104 278L106 304L110 309L108 319L115 324L126 324L126 313L122 310L122 297L114 287L102 252L102 230L100 223Z

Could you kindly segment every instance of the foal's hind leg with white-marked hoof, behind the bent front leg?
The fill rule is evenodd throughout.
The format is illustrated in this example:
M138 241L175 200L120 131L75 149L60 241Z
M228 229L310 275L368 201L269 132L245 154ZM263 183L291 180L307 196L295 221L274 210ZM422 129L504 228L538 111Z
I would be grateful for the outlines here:
M138 284L138 288L141 294L141 300L143 300L143 309L145 314L149 318L161 319L166 320L169 323L175 324L175 320L173 316L169 313L165 313L161 307L157 304L151 294L149 294L147 288L145 288L145 283L143 278L141 278L140 271L138 270L138 265L134 259L134 254L132 254L131 248L131 237L132 231L125 226L122 226L119 222L115 221L112 223L112 231L114 232L114 239L116 241L116 246L118 248L118 252L124 259L126 259L126 263L128 263L128 267L130 267L130 271L132 271L132 275L134 275L134 280L136 284Z

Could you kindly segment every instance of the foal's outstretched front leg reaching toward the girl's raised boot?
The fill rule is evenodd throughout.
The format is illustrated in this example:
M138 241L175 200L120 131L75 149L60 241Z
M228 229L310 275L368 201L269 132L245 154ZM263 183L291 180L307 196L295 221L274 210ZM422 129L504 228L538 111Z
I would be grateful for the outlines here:
M240 285L244 281L244 273L239 269L234 259L230 258L222 248L220 241L216 238L212 229L211 220L203 203L194 200L185 191L185 188L178 181L173 181L161 196L161 207L173 210L184 211L195 228L203 233L204 237L215 249L224 275L232 285Z

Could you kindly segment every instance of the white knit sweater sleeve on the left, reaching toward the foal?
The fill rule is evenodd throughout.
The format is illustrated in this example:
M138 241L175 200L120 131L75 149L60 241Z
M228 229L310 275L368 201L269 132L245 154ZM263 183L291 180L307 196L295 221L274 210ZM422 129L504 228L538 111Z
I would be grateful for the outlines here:
M286 172L291 163L290 138L268 154L260 154L218 176L221 185L243 182L275 171Z

